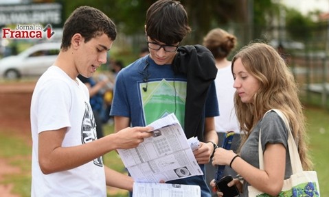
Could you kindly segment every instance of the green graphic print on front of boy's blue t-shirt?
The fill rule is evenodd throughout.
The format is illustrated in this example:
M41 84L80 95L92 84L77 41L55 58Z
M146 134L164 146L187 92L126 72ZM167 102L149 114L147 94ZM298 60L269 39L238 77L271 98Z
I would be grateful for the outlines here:
M186 81L148 81L148 91L144 92L146 83L141 83L141 99L146 124L175 113L184 128ZM175 95L176 90L176 95Z

